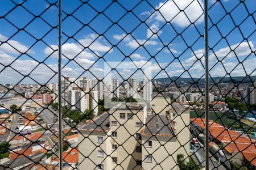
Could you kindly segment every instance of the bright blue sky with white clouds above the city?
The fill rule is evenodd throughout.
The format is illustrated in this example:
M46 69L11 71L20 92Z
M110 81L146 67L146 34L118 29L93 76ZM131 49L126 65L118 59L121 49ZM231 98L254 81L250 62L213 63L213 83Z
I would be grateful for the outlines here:
M0 83L18 83L23 75L31 71L30 78L23 79L23 83L34 83L34 80L39 83L46 83L48 80L56 82L57 75L54 71L57 71L57 52L53 51L57 49L56 1L48 1L53 5L43 0L14 2L21 3L22 6L15 7L9 0L0 2L0 15L5 16L0 19L0 40L9 40L8 44L0 45ZM85 4L78 0L63 0L62 73L73 78L103 77L105 61L123 60L133 61L131 64L138 67L150 61L152 76L160 72L156 78L166 77L167 74L201 77L204 74L204 39L200 36L204 34L203 6L201 0L95 0ZM156 11L153 7L159 10ZM210 67L213 67L210 75L224 76L226 71L232 76L256 75L256 5L253 0L243 3L235 0L224 0L221 3L212 0L209 7L209 59ZM12 11L9 12L10 10ZM132 12L126 13L126 10ZM98 14L102 11L104 12ZM252 15L249 16L247 11ZM230 15L226 15L227 12L230 12L233 20ZM40 17L35 18L38 15ZM188 19L195 24L190 24ZM25 25L27 26L24 27ZM17 28L24 30L18 31ZM38 61L44 61L45 64ZM240 61L243 61L243 65ZM8 65L19 73L11 67L5 67ZM184 69L189 69L189 74ZM134 72L129 69L118 71L125 77ZM133 76L140 79L141 74Z

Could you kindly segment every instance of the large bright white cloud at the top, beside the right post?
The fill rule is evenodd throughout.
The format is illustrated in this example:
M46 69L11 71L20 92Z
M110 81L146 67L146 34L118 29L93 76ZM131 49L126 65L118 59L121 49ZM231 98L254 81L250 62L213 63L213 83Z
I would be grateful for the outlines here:
M191 20L191 22L195 22L199 18L197 23L204 21L204 17L202 15L204 13L202 9L204 5L202 0L176 0L175 3L174 1L167 1L166 3L160 2L159 5L156 6L157 9L159 8L159 12L154 14L154 18L159 22L164 22L164 19L166 19L167 22L171 21L180 27L187 27L190 24L189 20ZM184 10L187 16L183 11L181 12L178 7L180 10Z

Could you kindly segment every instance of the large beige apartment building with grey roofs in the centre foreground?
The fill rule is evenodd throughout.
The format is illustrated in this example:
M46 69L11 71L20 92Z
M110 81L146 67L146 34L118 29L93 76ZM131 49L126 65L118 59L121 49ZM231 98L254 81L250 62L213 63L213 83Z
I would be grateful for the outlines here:
M155 97L152 109L147 109L144 103L126 103L126 107L110 109L109 113L105 112L82 126L79 169L177 169L177 154L189 150L189 143L183 150L179 142L189 142L186 138L189 131L179 130L180 127L171 120L172 107L167 106L168 109L160 114L154 112L163 107L153 107L154 103L163 99ZM180 120L177 116L174 118L178 124ZM176 135L177 131L186 137Z

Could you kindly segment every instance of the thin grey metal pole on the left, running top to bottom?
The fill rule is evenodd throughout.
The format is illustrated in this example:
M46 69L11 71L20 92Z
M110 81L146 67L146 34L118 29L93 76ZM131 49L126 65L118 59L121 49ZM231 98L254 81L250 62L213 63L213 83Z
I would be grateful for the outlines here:
M62 170L62 113L61 113L61 0L59 0L59 70L58 70L58 97L59 97L59 169Z

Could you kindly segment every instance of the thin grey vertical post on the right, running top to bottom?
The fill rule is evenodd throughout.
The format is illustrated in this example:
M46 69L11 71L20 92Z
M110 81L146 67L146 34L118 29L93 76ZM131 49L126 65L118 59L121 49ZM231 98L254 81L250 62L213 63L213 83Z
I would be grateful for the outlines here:
M204 0L204 42L205 42L205 169L209 169L209 65L208 65L208 0Z

